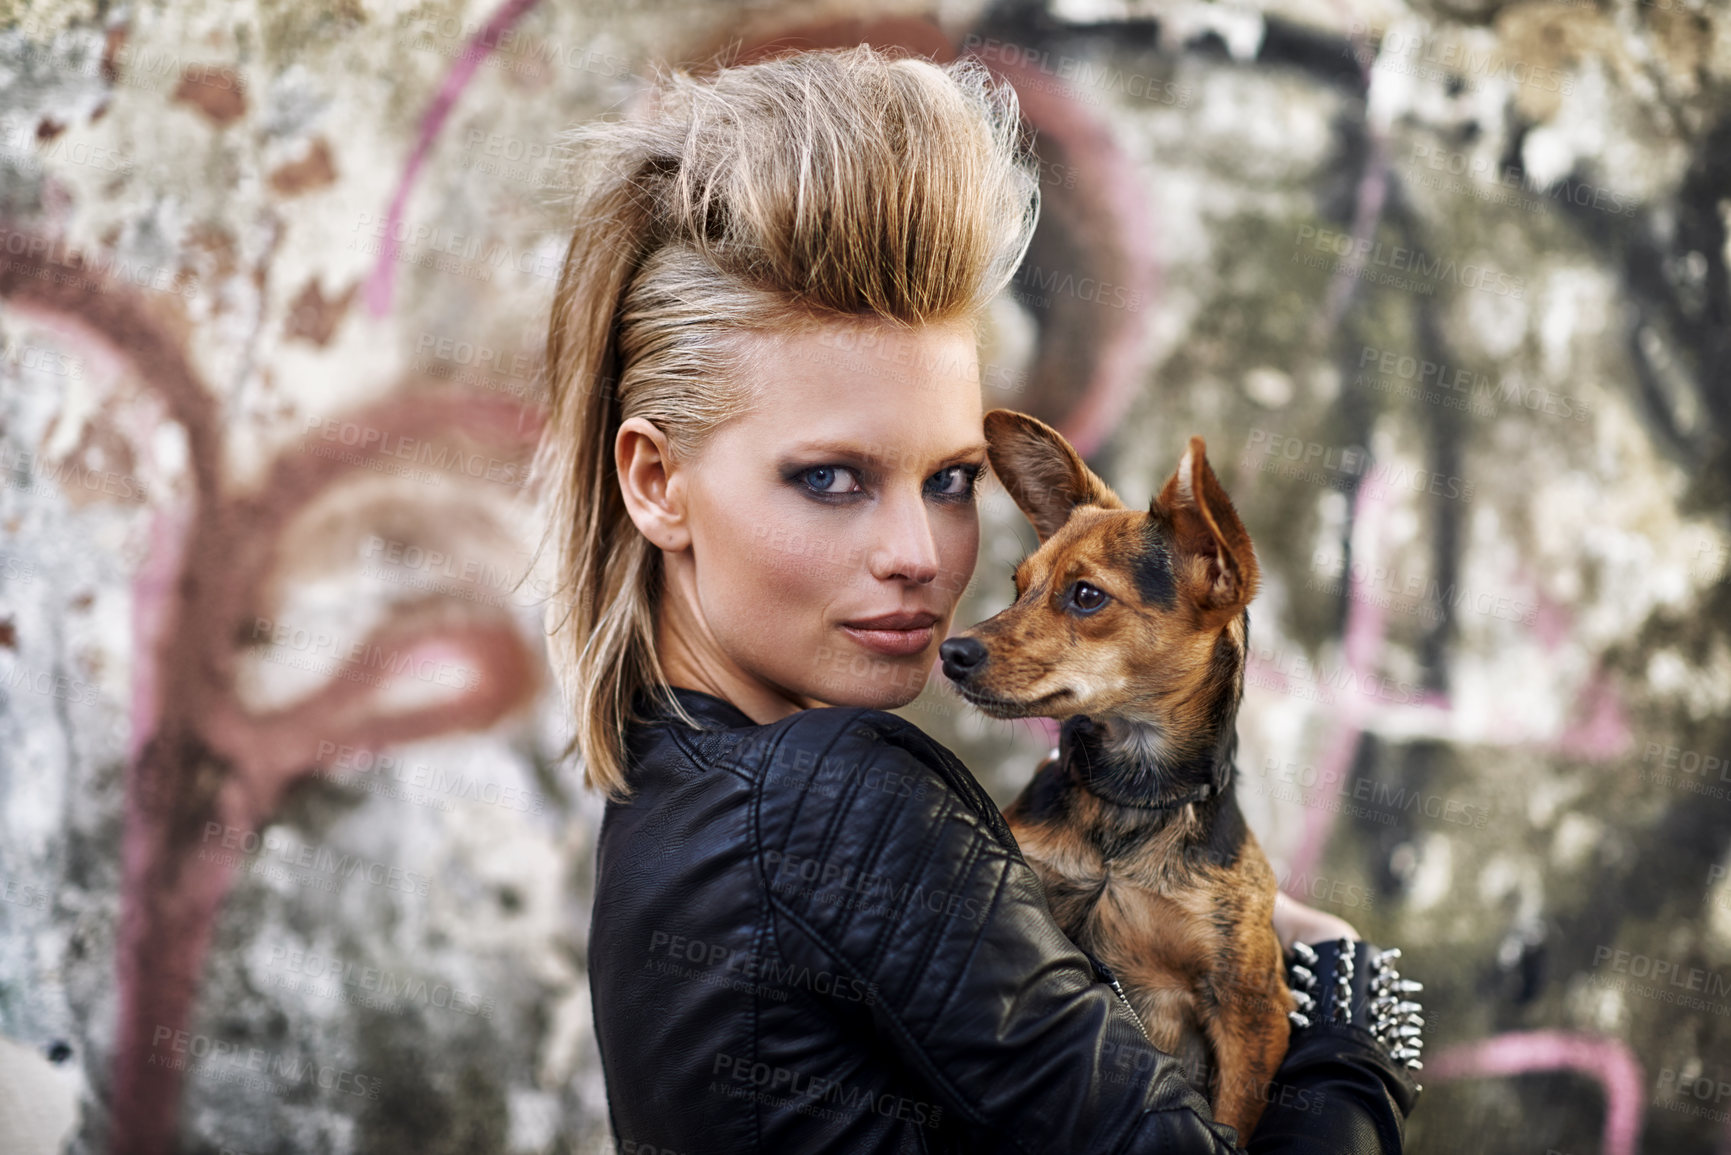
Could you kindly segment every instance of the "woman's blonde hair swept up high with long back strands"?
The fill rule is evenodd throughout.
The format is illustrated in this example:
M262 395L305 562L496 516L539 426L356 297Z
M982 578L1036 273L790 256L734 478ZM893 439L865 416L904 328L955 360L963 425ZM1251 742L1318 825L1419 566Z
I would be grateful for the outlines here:
M578 748L609 798L628 795L639 691L691 722L656 655L661 554L620 494L620 423L646 417L685 459L753 400L739 334L978 319L1040 210L1016 94L971 57L859 45L701 78L660 69L642 107L561 137L583 180L533 464L557 542L547 625L575 717L564 753Z

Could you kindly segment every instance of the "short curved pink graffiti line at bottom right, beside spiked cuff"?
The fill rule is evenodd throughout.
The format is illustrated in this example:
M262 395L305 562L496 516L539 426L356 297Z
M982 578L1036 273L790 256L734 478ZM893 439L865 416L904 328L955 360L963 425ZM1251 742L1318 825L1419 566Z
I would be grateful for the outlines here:
M1458 1042L1425 1063L1426 1082L1575 1070L1605 1091L1605 1155L1636 1155L1646 1094L1641 1063L1620 1039L1563 1030L1518 1030Z

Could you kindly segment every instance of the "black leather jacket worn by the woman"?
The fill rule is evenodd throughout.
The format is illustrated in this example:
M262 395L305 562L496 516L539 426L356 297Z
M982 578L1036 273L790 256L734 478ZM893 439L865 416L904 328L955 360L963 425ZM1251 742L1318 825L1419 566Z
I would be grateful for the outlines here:
M597 849L620 1152L1236 1150L956 755L883 710L673 693L705 729L630 727ZM1252 1152L1400 1150L1418 1086L1359 1023L1293 1032Z

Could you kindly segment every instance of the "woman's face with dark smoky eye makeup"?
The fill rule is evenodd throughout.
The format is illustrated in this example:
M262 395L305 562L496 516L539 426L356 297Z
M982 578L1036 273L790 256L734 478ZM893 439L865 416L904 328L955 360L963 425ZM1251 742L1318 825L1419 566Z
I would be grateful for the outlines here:
M973 327L751 339L758 400L672 464L663 497L679 525L651 533L668 575L668 681L758 722L826 703L905 705L980 549Z

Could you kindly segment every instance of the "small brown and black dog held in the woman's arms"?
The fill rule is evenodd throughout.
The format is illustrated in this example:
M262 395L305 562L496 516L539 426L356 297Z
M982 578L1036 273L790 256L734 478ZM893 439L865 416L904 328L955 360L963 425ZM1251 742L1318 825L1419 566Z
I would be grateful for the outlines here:
M1058 925L1243 1143L1297 1004L1274 871L1232 793L1250 535L1200 436L1144 511L1051 426L994 409L985 431L1040 547L1007 610L940 646L943 674L992 717L1063 719L1004 817Z

